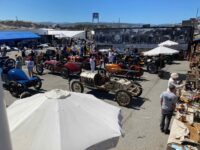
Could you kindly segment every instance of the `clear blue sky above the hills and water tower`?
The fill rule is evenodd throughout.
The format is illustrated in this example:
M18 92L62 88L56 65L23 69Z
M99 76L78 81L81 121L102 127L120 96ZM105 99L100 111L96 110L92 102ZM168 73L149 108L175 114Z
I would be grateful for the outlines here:
M0 20L35 22L180 23L196 16L200 0L0 0Z

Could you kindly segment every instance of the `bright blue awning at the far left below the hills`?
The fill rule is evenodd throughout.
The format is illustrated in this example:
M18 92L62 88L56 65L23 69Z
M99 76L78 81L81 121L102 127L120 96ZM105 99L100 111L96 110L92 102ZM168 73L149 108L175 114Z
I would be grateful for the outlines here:
M0 31L0 42L37 38L40 38L40 36L28 31Z

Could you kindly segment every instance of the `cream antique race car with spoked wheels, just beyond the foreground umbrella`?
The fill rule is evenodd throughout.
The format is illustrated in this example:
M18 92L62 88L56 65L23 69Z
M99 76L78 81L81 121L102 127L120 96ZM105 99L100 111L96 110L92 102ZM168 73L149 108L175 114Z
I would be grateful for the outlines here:
M121 106L128 106L133 97L142 94L140 84L128 79L109 78L105 74L82 72L79 80L70 83L73 92L84 92L84 87L90 89L99 89L115 94L115 100Z

